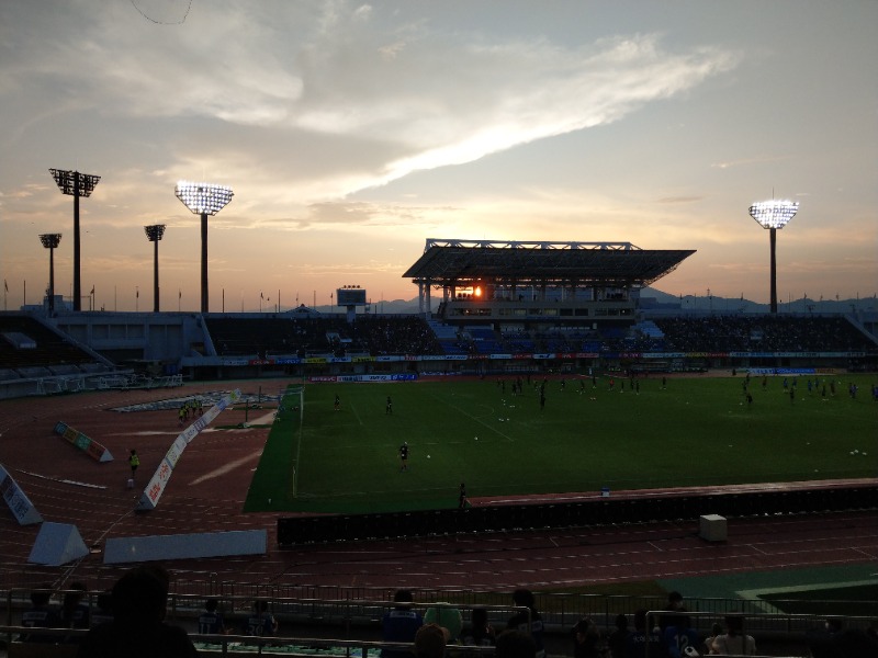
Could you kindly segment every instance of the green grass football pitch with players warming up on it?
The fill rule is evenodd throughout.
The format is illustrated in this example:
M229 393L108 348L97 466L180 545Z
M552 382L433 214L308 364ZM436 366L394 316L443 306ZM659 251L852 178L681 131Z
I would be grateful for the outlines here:
M813 376L811 377L813 379ZM783 377L569 376L386 384L308 384L304 413L284 398L245 511L387 512L470 498L654 487L860 478L878 475L878 402L869 376L821 376L795 400ZM834 379L835 395L830 393ZM792 382L792 377L789 377ZM620 385L624 383L624 388ZM859 387L852 398L848 384ZM583 387L584 384L584 387ZM335 396L341 399L334 409ZM387 396L393 413L385 413ZM408 470L398 449L408 442ZM269 500L271 502L269 502Z

